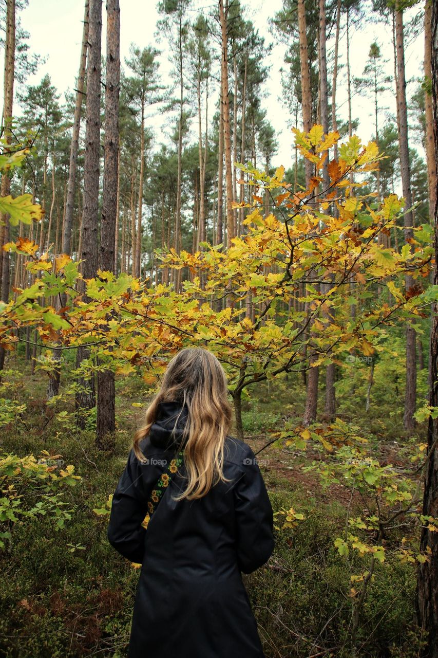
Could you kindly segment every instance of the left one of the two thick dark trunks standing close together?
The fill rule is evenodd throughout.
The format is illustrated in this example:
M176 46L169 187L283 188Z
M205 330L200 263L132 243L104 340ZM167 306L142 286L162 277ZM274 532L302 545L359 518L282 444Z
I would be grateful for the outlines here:
M102 0L89 0L89 32L87 63L87 111L85 122L84 208L80 259L84 259L82 276L94 278L97 273L97 216L99 213L99 157L101 130L101 32ZM79 282L79 291L85 285ZM84 299L87 300L86 295ZM78 347L76 367L89 356L87 347ZM76 422L84 429L86 410L95 406L94 377L78 378L82 390L76 393Z

